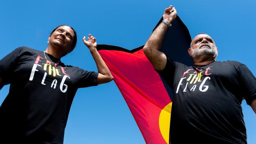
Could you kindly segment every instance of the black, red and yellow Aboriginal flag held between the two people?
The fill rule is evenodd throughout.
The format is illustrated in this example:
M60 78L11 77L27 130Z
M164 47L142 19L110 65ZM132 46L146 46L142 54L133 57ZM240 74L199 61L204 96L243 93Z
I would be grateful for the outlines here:
M192 59L187 54L190 42L187 27L177 16L167 31L161 51L174 61L191 65ZM127 50L100 44L97 50L114 76L145 142L169 144L173 92L154 70L143 53L143 46Z

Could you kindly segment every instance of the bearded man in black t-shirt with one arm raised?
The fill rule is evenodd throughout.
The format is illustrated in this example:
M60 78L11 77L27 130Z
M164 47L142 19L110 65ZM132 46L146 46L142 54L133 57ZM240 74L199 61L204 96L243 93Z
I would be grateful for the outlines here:
M207 34L197 35L188 49L194 65L174 62L160 52L165 33L176 18L165 9L163 22L153 31L143 51L173 89L171 144L246 144L241 102L256 112L256 78L236 61L215 61L218 49Z

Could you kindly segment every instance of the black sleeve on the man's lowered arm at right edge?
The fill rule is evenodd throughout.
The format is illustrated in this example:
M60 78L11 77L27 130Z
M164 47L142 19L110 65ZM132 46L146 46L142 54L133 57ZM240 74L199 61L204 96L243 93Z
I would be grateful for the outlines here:
M256 78L245 65L238 66L237 73L243 97L245 98L246 103L250 105L252 100L256 98Z

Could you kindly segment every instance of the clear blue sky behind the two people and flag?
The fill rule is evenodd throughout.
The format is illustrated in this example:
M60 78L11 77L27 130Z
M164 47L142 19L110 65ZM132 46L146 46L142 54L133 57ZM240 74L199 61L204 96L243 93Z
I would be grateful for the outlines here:
M96 71L82 37L91 33L98 44L133 49L145 44L170 4L191 37L205 32L219 48L218 61L236 60L256 76L255 0L2 0L0 59L19 46L45 50L49 33L68 24L78 33L75 50L65 64ZM0 91L0 104L9 85ZM242 103L248 143L256 143L256 115ZM145 144L115 83L79 89L69 113L64 144Z

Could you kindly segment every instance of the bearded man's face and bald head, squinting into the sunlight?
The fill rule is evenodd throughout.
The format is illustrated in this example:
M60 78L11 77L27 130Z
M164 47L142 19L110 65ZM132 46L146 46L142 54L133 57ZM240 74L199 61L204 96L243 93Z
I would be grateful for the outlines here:
M213 39L206 34L197 35L191 42L192 46L189 48L189 55L197 57L200 55L212 55L214 58L218 55L218 49Z

